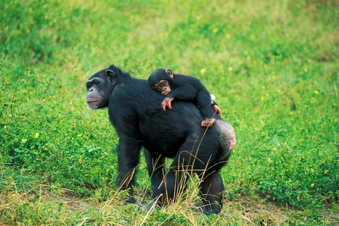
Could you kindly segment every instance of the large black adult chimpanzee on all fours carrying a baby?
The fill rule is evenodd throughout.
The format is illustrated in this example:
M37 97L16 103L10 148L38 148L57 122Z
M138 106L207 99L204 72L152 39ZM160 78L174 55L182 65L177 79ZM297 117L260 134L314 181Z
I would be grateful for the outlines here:
M150 174L153 196L158 202L175 200L186 186L187 173L201 178L203 213L219 213L224 186L219 171L235 145L230 124L215 116L207 131L200 126L203 116L191 102L172 102L163 111L161 93L148 81L132 78L116 66L98 71L86 83L90 109L108 107L109 120L119 135L118 183L128 191L126 203L135 203L133 181L141 146ZM165 157L174 158L164 174Z

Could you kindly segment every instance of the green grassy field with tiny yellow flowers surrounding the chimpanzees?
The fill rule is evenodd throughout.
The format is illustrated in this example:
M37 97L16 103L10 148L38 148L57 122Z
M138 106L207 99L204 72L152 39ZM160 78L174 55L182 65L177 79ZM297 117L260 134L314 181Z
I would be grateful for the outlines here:
M338 0L0 0L0 54L0 225L339 225ZM109 64L216 96L237 134L220 215L189 210L195 177L166 208L121 205L119 138L85 105Z

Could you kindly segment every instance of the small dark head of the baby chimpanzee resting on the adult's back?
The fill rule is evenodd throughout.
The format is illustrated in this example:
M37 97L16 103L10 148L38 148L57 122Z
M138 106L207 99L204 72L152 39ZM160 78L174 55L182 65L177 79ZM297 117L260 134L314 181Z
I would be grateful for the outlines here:
M171 92L169 83L172 82L172 78L173 73L171 69L157 69L150 74L148 84L151 89L156 90L163 95L167 95Z

